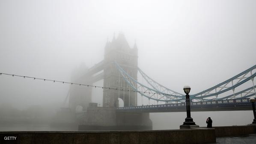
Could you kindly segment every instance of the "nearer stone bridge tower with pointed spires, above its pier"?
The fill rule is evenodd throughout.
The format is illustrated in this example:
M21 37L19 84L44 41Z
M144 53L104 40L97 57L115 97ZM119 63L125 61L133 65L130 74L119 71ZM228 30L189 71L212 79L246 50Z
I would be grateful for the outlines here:
M131 86L120 75L114 62L117 62L130 76L137 80L137 45L135 43L134 47L131 48L123 33L119 33L117 38L114 35L112 41L107 41L105 46L104 87L132 90ZM135 87L137 87L137 84L135 84ZM104 89L103 107L119 107L118 98L123 100L124 106L137 106L136 92Z

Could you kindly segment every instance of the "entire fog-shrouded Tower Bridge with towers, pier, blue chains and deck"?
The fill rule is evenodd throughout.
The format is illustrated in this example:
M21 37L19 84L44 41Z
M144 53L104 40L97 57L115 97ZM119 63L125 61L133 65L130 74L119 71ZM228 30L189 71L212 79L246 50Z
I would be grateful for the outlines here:
M69 107L75 111L77 106L83 106L83 112L77 113L82 118L80 129L152 129L150 112L185 112L184 94L159 84L138 68L136 43L131 48L120 33L111 42L107 41L104 51L104 60L79 78L87 84L104 80L103 107L89 106L92 89L70 89ZM146 84L138 81L139 75ZM191 111L250 110L248 99L256 97L255 76L256 65L253 65L218 85L192 94ZM241 90L245 83L247 88ZM123 107L119 106L119 100L124 102Z

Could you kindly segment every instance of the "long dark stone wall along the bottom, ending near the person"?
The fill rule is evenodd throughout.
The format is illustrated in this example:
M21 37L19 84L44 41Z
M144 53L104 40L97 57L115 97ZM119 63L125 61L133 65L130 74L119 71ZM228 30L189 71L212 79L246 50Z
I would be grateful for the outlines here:
M4 140L15 136L16 140ZM0 132L0 144L206 144L214 129L98 132Z

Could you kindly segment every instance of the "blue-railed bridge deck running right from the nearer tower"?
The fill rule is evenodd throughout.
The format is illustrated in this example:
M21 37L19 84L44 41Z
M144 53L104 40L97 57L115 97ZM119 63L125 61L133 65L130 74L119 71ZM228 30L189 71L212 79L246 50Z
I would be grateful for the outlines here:
M252 105L249 102L249 99L191 102L191 112L244 110L252 110ZM185 103L131 106L117 108L116 112L186 112L186 106Z

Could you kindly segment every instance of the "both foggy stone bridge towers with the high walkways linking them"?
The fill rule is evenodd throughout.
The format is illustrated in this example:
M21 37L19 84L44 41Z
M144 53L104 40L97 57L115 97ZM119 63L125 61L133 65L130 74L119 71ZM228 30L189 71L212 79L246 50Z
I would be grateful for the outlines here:
M104 87L131 89L119 74L114 62L117 62L126 72L137 80L138 50L136 44L130 48L124 34L120 33L117 38L113 36L111 42L107 41L105 46L104 60L86 70L79 70L80 74L75 74L72 82L92 85L104 79ZM135 85L137 86L137 85ZM130 97L129 97L130 96ZM92 97L92 88L81 89L77 86L70 86L69 108L75 111L77 106L82 106L83 110L89 106ZM128 91L116 91L111 89L103 90L103 107L118 107L121 98L124 106L137 106L137 93Z

